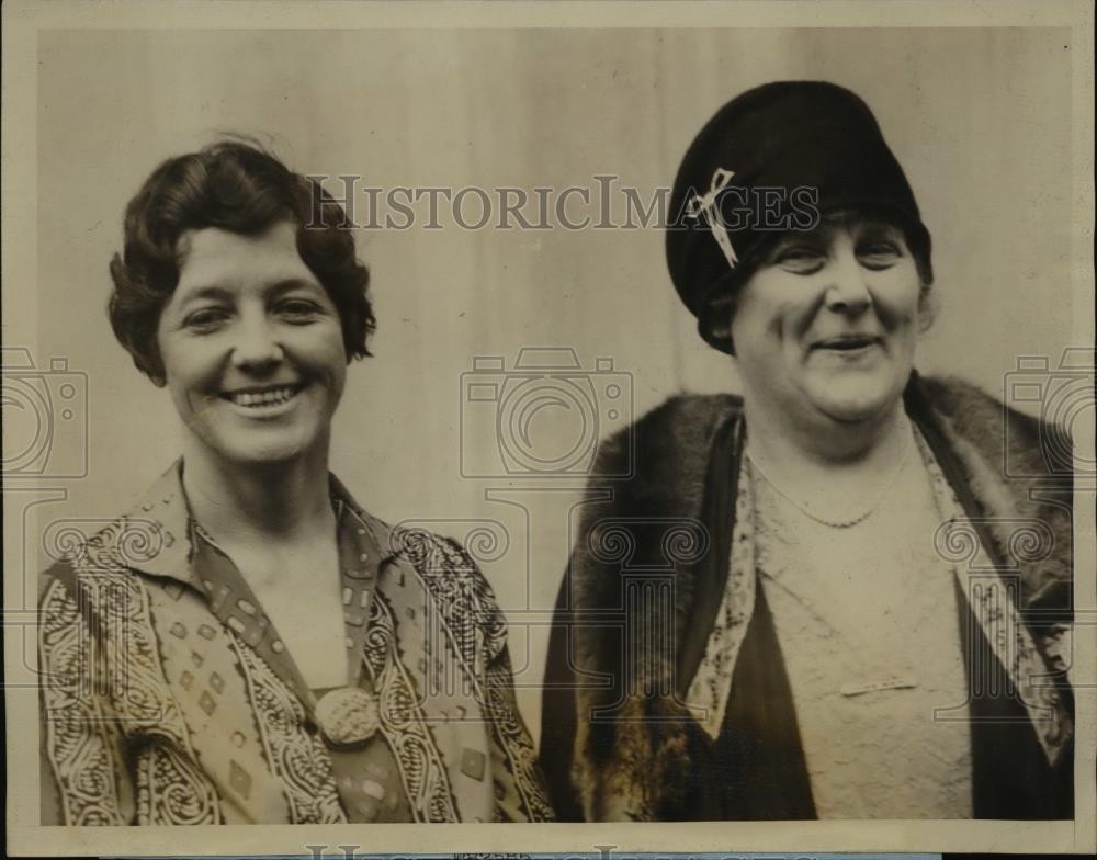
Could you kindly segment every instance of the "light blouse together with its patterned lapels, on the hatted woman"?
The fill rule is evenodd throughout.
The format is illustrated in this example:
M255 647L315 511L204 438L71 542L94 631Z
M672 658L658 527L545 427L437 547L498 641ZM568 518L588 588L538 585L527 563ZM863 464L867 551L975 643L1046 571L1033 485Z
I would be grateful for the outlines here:
M778 645L821 817L972 815L971 769L963 766L971 755L968 684L953 661L962 658L957 631L969 611L977 633L964 627L985 637L1049 762L1071 737L1070 716L1016 606L1016 572L991 561L917 430L914 441L919 456L909 457L890 498L840 538L772 499L756 505L761 479L743 461L727 584L686 701L702 731L719 738L756 590L765 588L777 603ZM790 528L783 520L793 513L806 523ZM856 585L844 584L847 577ZM916 683L897 683L904 679ZM838 697L852 724L833 712Z

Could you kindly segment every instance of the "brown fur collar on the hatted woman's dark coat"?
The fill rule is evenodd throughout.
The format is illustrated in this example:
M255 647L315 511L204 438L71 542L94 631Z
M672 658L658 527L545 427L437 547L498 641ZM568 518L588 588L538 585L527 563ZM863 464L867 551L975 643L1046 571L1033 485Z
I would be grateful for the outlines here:
M602 445L595 474L623 474L630 462L636 471L609 491L591 487L570 563L572 606L623 608L655 622L668 607L622 607L622 572L672 569L675 629L689 629L703 612L694 598L706 535L703 529L693 535L698 552L675 556L667 529L702 522L713 440L728 421L740 422L742 410L730 395L674 397ZM1049 467L1047 455L1065 437L954 380L914 377L907 410L937 437L946 475L984 546L1019 577L1020 609L1039 638L1071 601L1071 478ZM621 552L607 553L607 522L627 532ZM690 767L690 717L678 694L690 679L677 677L674 649L642 648L623 665L630 648L620 629L578 624L575 645L581 674L626 679L623 691L577 691L573 783L586 819L666 817L681 802Z

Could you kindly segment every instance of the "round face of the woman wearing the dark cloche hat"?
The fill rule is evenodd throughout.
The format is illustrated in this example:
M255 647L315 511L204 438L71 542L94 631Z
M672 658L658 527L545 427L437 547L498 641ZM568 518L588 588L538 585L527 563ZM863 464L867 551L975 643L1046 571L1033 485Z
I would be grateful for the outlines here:
M790 233L744 285L732 320L749 399L799 428L880 418L898 403L921 330L903 231L824 223Z

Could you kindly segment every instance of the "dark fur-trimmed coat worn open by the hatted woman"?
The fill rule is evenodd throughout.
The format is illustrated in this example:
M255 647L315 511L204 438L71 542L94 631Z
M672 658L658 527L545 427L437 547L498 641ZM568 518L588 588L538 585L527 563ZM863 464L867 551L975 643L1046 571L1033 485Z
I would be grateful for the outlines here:
M973 633L958 587L974 815L1070 818L1070 440L957 381L913 375L905 407L983 550L1018 584L1016 609L1062 714L1049 759L1017 697L992 695L989 676L975 676L973 667L1003 667ZM631 477L590 482L557 599L541 761L562 821L816 817L764 600L736 659L720 737L700 731L685 706L727 582L744 435L739 398L678 396L599 451L595 475ZM1044 535L1040 552L1018 545L1025 523ZM660 590L668 569L674 585Z

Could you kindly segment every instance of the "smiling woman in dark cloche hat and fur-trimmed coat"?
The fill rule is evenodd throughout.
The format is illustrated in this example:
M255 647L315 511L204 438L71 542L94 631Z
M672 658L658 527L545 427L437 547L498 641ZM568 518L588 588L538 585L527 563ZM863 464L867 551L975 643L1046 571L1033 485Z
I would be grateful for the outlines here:
M671 279L743 396L600 452L621 474L631 439L637 469L591 487L557 602L557 813L1072 817L1070 477L1053 428L914 371L930 239L872 113L744 93L671 212Z

